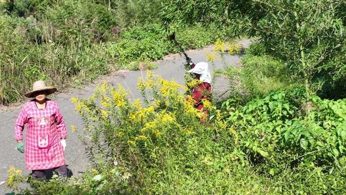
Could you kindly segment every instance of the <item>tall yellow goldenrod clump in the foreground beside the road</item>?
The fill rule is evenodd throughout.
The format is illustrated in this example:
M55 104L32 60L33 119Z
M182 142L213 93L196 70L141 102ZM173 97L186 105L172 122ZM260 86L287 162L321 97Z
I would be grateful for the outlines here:
M104 82L88 99L72 98L76 111L85 121L84 135L80 137L85 143L98 146L89 147L93 158L115 157L129 147L145 145L148 149L166 144L168 135L186 132L184 126L197 116L196 109L182 92L186 89L184 86L165 81L151 72L138 84L142 94L147 94L144 95L146 102L150 102L146 106L139 99L131 101L128 92L120 85L117 87Z

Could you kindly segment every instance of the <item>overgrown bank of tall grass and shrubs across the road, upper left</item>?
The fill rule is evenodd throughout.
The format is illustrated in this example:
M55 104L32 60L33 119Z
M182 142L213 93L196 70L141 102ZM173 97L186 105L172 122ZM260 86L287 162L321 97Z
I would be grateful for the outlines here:
M0 16L0 103L21 101L21 94L36 80L63 89L113 70L151 69L148 61L179 52L160 24L154 23L158 2L151 7L141 1L103 3L18 0L0 4L4 13ZM130 12L143 7L147 10L143 15L130 17ZM201 48L222 36L213 28L180 28L179 32L177 40L185 49Z

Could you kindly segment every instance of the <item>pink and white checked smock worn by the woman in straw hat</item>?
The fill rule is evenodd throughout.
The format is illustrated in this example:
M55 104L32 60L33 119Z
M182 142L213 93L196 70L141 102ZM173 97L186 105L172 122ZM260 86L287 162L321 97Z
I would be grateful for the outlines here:
M38 109L34 100L26 102L15 124L15 139L23 139L26 127L25 161L28 170L45 170L65 165L60 138L66 138L64 118L57 102L47 99Z

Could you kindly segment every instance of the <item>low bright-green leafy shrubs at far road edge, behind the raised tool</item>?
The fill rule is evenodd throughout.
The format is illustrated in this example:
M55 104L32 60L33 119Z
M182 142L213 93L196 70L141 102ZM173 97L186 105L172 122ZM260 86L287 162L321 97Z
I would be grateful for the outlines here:
M185 49L196 49L212 44L222 33L213 29L195 27L181 29L177 33L177 41ZM121 40L107 45L107 58L113 59L123 67L134 60L158 60L169 53L181 52L179 47L167 40L157 24L135 27L121 34Z

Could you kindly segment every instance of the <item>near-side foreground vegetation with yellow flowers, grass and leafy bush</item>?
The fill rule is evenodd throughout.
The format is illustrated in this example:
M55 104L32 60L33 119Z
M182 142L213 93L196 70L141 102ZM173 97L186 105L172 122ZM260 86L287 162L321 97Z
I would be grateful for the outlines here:
M221 48L218 42L215 50ZM252 54L248 55L246 58ZM262 58L254 61L267 63ZM267 69L258 66L258 75ZM227 69L224 73L257 77L246 71L239 74ZM278 78L271 81L282 77L275 75ZM275 87L272 84L268 85ZM247 91L245 101L236 99L241 96L235 92L235 98L225 101L221 110L206 104L212 115L207 123L201 123L199 113L180 91L183 86L149 72L138 87L144 97L153 97L153 101L145 101L151 103L130 100L121 86L112 88L106 83L87 99L74 98L76 111L85 121L83 129L74 130L94 166L67 184L52 179L27 192L345 193L344 100L313 95L307 102L305 88L299 85L263 91L263 96ZM238 92L243 93L239 87ZM15 170L12 172L16 175ZM12 177L20 180L20 175Z

